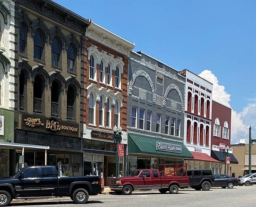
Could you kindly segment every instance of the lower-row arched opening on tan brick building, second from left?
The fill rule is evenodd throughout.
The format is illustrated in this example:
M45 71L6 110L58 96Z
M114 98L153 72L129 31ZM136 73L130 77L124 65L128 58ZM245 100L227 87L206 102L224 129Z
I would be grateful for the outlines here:
M42 113L42 99L44 93L44 81L41 76L36 75L33 83L33 111Z

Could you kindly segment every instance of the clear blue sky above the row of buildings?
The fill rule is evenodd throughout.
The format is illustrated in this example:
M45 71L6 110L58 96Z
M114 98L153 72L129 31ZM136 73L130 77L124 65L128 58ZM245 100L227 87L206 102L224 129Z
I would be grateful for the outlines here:
M234 111L255 104L242 121L256 125L256 1L55 2L176 70L211 70Z

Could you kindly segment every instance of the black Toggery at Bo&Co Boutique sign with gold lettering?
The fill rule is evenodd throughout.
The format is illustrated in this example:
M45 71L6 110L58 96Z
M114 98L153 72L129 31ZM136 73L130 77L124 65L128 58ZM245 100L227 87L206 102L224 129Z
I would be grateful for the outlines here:
M61 121L54 117L22 114L22 128L35 131L48 131L51 134L78 136L78 124Z

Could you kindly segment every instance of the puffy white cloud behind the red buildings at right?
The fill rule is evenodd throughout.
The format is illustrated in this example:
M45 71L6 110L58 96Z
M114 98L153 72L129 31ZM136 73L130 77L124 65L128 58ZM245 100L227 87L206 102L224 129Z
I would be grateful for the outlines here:
M225 87L218 84L218 78L210 71L204 70L199 74L200 77L213 84L212 99L230 108L230 94L225 91ZM249 125L252 127L252 137L256 127L256 103L255 99L250 99L250 103L244 107L242 112L237 113L231 109L231 143L238 143L240 139L249 139ZM253 137L256 138L256 137Z

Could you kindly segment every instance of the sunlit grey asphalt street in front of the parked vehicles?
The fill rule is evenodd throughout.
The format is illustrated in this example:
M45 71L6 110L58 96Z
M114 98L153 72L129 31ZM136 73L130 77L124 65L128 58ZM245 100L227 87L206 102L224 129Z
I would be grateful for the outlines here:
M55 201L11 203L17 207L254 207L256 186L237 186L233 189L212 188L209 191L180 190L178 194L156 191L133 192L130 196L115 194L90 196L86 204L74 204L68 198Z

